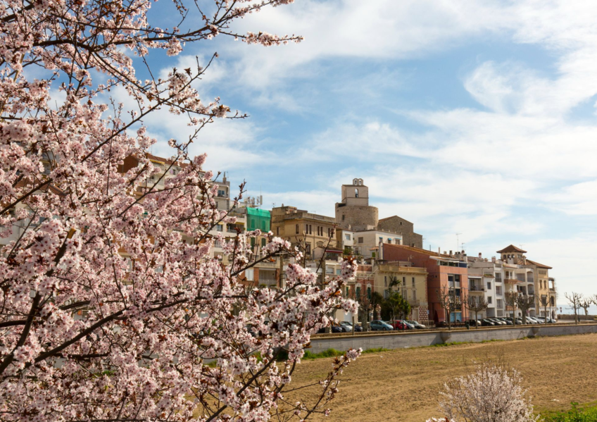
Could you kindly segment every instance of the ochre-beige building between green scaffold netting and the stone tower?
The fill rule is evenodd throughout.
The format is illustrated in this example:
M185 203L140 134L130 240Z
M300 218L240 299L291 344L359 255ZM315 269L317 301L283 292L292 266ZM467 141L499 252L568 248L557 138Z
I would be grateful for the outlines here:
M328 242L329 247L337 247L335 218L284 205L273 208L271 214L274 235L288 240L293 246L300 244L308 258L313 259L315 248L325 247Z

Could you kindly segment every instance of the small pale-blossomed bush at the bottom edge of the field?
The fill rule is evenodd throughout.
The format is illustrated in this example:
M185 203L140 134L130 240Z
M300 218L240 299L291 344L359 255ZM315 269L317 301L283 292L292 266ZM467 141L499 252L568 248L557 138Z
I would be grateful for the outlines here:
M524 397L522 377L491 362L479 364L469 376L444 383L440 411L447 418L470 422L531 422L533 406Z

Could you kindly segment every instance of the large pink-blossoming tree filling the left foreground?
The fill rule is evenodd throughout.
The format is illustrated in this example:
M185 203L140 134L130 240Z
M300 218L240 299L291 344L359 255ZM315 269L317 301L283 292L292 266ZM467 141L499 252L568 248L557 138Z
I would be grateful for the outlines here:
M310 334L333 309L356 311L340 295L355 264L345 261L323 284L289 265L285 287L244 289L238 278L254 265L250 238L260 232L210 235L234 218L218 211L206 156L188 151L214 119L242 116L199 98L194 84L208 63L140 80L131 58L152 75L152 49L172 56L219 34L265 46L298 41L231 29L248 13L290 2L187 8L175 0L182 23L194 17L189 30L152 25L150 0L0 3L0 420L267 421L327 412L358 351L334 361L314 403L285 393ZM116 88L136 108L112 101ZM162 173L146 153L156 141L143 122L158 108L188 116L194 131L169 142L166 170L180 171L155 180ZM139 165L125 170L133 156ZM269 239L260 259L299 254ZM215 241L226 265L210 254ZM288 357L277 363L282 351Z

